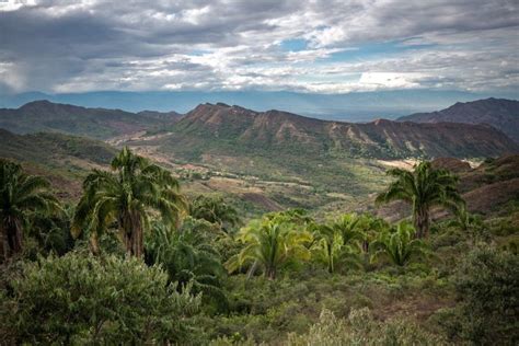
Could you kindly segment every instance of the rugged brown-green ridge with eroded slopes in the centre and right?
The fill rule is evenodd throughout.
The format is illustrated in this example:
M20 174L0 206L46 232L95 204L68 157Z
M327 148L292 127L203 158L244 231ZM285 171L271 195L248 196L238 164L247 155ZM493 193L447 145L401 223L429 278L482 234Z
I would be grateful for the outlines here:
M272 152L376 159L481 158L519 151L519 145L486 125L385 119L353 124L221 103L197 106L169 130L159 143L188 159Z

